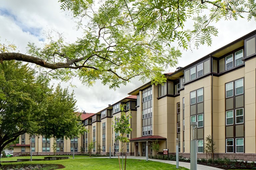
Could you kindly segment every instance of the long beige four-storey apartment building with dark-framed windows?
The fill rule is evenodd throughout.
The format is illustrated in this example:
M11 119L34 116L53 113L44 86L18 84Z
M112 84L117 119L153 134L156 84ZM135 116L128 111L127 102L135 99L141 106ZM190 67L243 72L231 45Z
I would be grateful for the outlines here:
M255 161L255 71L256 30L185 67L178 67L173 73L166 73L164 85L148 82L128 93L129 97L83 119L89 132L82 139L73 139L74 143L78 141L77 152L81 146L87 152L93 141L93 153L107 154L111 150L111 154L118 154L120 143L115 140L118 134L113 124L120 117L121 105L125 105L126 114L132 114L133 129L127 134L130 142L125 144L128 155L145 156L146 144L148 154L153 154L155 140L160 143L160 151L169 149L169 153L175 153L178 138L180 154L190 157L190 123L197 122L199 158L205 157L205 138L211 135L216 143L215 157ZM35 143L40 140L35 152L51 152L48 140L43 144L42 139L35 139ZM21 136L15 152L29 151L29 142L26 134ZM64 152L71 151L70 145L71 140L64 142Z

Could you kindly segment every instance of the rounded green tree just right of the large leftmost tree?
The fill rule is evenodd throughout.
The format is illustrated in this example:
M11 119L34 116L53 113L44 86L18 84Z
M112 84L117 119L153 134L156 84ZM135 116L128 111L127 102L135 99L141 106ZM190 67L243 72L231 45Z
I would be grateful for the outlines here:
M74 138L85 132L81 124L80 114L76 110L74 93L69 94L67 89L62 89L60 84L55 91L47 96L47 112L42 116L39 134L46 138ZM57 147L57 145L55 145Z

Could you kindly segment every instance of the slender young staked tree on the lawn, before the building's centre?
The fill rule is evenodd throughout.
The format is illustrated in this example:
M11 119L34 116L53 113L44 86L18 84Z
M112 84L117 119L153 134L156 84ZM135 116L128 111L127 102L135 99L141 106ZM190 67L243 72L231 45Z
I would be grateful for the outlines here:
M124 107L125 107L125 105L120 106L121 117L120 118L115 117L116 123L114 125L114 130L116 133L118 133L118 136L115 138L115 141L119 140L119 142L121 143L120 151L121 151L121 155L122 155L122 169L123 169L123 155L125 154L124 144L130 142L130 140L126 134L130 134L132 131L132 128L130 128L130 121L129 121L131 118L131 113L129 111L129 113L126 116L126 114L124 112ZM125 157L125 159L126 159L126 157ZM119 162L119 165L120 165L120 162ZM121 166L120 166L120 170L121 170Z

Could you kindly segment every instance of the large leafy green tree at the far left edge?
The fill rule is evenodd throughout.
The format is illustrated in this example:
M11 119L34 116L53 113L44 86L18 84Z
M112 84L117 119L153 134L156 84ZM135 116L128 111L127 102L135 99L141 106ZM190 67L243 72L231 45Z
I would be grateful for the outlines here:
M48 79L35 77L35 72L21 62L4 61L0 64L0 151L21 134L47 135L43 129L50 126L48 119L53 118L51 114L55 109L50 106L56 106L57 112L58 106L65 106L65 109L70 107L58 100L51 100L56 92L52 92L48 85ZM61 93L60 88L56 91ZM63 100L69 100L69 96L63 97ZM78 127L73 128L76 130Z

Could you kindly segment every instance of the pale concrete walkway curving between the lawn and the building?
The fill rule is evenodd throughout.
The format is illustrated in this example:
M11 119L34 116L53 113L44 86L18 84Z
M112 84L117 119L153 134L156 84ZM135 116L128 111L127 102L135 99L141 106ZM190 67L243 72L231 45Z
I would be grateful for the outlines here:
M95 158L95 157L92 157L92 158ZM98 157L98 158L109 158L109 157ZM118 158L118 156L111 156L111 158ZM142 160L146 160L146 157L144 157L144 156L127 156L127 159L142 159ZM176 165L176 161L161 160L161 159L150 159L150 158L148 158L148 160ZM190 163L188 163L188 162L179 162L179 166L182 166L182 167L190 169ZM205 166L205 165L197 164L197 170L222 170L222 169L211 167L211 166Z

